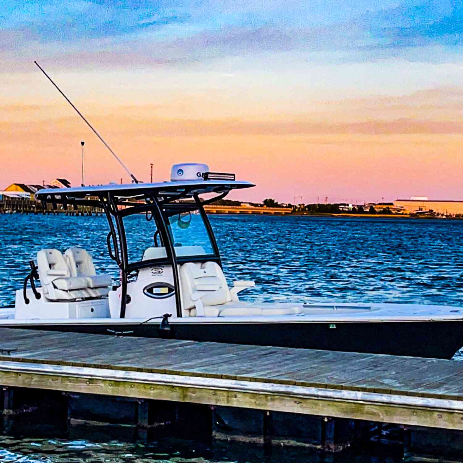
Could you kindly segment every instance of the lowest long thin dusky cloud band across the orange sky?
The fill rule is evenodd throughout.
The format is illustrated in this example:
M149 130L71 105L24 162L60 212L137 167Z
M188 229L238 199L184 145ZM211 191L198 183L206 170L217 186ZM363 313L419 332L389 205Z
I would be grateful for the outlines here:
M110 118L110 121L108 121ZM243 121L239 119L194 120L194 119L141 119L114 114L105 119L92 117L92 124L110 138L112 133L118 137L177 138L177 137L215 137L215 136L291 136L291 135L438 135L463 134L463 121L419 120L400 118L392 121L381 119L355 123L311 122L307 120L289 121ZM25 125L26 124L26 125ZM82 133L82 123L77 118L60 117L47 119L46 124L53 131ZM4 124L6 135L15 132L38 131L44 122L8 121ZM136 135L134 135L136 134Z

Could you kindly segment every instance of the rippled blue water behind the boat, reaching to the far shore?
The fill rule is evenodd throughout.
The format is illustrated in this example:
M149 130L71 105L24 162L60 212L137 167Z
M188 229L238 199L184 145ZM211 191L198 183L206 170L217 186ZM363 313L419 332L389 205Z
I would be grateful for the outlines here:
M227 278L256 282L255 289L241 293L243 299L463 305L461 220L220 215L210 220ZM2 215L0 230L0 305L13 302L29 260L42 248L82 246L99 271L118 277L106 249L104 217ZM144 245L138 247L141 257Z

